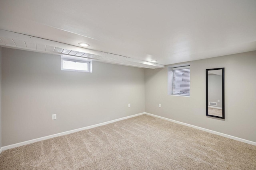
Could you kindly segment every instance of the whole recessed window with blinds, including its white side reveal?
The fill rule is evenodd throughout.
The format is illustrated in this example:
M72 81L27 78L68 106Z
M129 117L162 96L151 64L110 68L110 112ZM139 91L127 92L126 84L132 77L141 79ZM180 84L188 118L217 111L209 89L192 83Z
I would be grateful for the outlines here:
M190 96L190 66L169 68L168 94Z

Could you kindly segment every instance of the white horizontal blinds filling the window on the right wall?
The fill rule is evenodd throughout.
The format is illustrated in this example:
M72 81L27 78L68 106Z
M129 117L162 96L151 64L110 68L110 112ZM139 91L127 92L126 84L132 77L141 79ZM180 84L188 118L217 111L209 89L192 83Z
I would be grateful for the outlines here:
M173 70L172 94L190 96L190 67L176 67Z

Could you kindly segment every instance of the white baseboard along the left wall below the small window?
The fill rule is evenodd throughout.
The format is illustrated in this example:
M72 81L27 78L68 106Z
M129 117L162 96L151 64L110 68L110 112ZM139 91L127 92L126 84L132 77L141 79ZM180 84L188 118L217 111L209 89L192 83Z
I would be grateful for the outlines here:
M82 127L82 128L79 128L79 129L74 129L74 130L71 130L71 131L66 131L66 132L57 133L57 134L54 134L54 135L49 135L49 136L40 137L40 138L37 138L37 139L32 139L32 140L29 140L29 141L15 143L15 144L12 144L12 145L8 145L8 146L5 146L5 147L2 147L0 152L2 152L2 150L12 149L12 148L20 147L20 146L23 146L23 145L28 145L30 143L44 141L46 139L50 139L50 138L54 138L54 137L59 137L59 136L63 136L63 135L68 135L70 133L75 133L75 132L86 130L86 129L92 129L94 127L106 125L106 124L109 124L109 123L113 123L113 122L116 122L116 121L128 119L128 118L131 118L131 117L136 117L136 116L143 115L143 114L145 114L145 113L144 112L143 113L138 113L138 114L135 114L135 115L126 116L126 117L122 117L122 118L119 118L119 119L114 119L114 120L111 120L111 121L106 121L106 122L103 122L103 123L98 123L96 125L86 126L86 127Z

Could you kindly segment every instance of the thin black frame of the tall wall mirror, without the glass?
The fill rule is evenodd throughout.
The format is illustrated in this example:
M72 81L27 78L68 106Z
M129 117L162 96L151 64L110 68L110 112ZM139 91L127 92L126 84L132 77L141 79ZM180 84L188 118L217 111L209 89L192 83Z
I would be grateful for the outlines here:
M222 70L222 117L208 115L208 70ZM206 69L206 116L225 119L225 100L224 100L224 68Z

